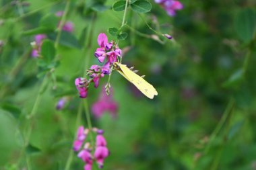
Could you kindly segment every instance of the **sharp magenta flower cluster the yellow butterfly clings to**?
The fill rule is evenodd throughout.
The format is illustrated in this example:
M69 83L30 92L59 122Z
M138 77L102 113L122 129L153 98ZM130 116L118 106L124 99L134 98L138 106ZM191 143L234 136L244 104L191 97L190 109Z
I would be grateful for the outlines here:
M87 71L87 75L90 76L90 79L79 77L75 79L75 86L79 91L79 96L82 98L87 97L87 91L90 83L94 83L94 87L97 88L100 82L100 78L104 75L109 75L111 72L111 67L114 62L117 62L118 57L121 58L122 50L119 48L115 42L108 42L108 37L104 33L98 35L98 45L99 48L94 52L94 56L98 58L99 62L104 62L103 66L92 65Z

